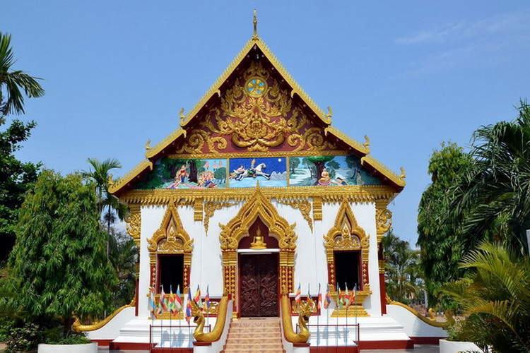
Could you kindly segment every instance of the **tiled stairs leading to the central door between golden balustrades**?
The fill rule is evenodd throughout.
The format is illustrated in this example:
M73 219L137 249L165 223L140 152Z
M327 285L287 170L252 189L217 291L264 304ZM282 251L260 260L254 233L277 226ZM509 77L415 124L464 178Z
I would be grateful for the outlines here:
M232 320L224 353L281 353L280 318L241 318Z

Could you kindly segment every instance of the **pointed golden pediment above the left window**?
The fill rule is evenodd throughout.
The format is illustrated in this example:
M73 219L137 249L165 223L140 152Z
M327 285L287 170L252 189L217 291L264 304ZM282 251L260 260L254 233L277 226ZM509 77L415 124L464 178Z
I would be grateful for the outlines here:
M156 261L157 253L191 253L193 239L182 227L175 203L170 203L165 211L160 228L147 240L151 263Z

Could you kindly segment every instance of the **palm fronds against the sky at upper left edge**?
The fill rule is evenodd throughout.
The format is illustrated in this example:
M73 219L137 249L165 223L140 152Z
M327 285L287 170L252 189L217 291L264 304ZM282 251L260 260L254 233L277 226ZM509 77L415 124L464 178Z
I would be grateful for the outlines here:
M45 90L36 78L23 71L14 71L15 57L11 49L11 35L0 32L0 116L24 112L24 90L28 97L41 97ZM4 85L6 101L4 102Z

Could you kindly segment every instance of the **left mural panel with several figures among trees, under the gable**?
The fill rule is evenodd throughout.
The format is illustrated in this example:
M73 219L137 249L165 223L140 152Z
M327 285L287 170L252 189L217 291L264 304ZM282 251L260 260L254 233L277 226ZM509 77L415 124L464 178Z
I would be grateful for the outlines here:
M163 157L134 189L213 189L226 187L226 160Z

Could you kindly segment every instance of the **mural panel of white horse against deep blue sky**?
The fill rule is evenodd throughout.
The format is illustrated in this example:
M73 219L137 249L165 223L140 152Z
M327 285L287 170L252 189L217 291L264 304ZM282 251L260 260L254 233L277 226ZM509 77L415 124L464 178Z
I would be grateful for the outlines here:
M230 158L230 188L287 186L285 157Z

